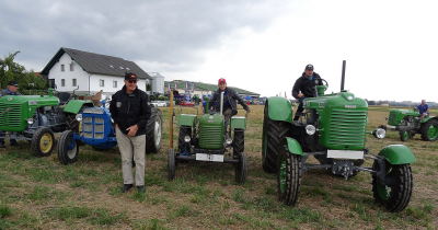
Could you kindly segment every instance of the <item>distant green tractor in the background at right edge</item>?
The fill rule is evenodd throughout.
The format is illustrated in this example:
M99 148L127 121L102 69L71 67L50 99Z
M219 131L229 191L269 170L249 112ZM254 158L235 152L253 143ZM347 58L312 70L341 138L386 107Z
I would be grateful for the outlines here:
M391 110L388 125L381 127L399 131L402 141L413 138L416 134L422 135L423 140L435 141L438 139L438 117L420 118L416 110Z

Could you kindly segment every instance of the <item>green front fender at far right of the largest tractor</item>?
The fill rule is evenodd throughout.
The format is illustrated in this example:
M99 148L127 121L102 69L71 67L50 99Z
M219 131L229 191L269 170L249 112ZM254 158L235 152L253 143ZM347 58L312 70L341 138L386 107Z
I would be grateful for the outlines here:
M404 145L390 145L380 150L382 156L391 164L407 164L415 162L415 156L412 150Z

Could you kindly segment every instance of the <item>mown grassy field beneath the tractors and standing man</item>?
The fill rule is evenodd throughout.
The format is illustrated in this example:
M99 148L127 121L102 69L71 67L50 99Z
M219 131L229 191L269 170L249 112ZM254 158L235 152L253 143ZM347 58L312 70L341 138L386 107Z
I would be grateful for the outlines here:
M344 181L324 171L303 176L296 207L276 199L276 177L261 168L263 106L252 106L245 134L249 179L233 181L227 164L180 164L176 180L166 180L168 110L163 148L147 156L146 195L122 194L118 150L82 147L78 162L58 163L31 156L27 143L0 150L0 229L434 229L438 226L438 141L416 137L405 142L417 157L412 165L414 193L407 209L389 214L373 203L371 176ZM184 113L194 112L184 108ZM370 107L369 129L385 123L388 108ZM175 130L175 136L177 130ZM402 143L397 133L384 140L368 137L377 153ZM370 164L370 162L368 162Z

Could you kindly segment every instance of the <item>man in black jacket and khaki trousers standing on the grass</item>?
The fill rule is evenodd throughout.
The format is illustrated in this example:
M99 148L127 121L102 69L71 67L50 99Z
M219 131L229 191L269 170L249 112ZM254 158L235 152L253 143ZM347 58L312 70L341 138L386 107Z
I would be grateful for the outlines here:
M125 85L117 91L110 104L114 119L118 149L122 156L123 193L136 183L139 193L145 193L146 125L151 114L149 96L137 88L137 74L127 72ZM132 158L136 164L132 176Z

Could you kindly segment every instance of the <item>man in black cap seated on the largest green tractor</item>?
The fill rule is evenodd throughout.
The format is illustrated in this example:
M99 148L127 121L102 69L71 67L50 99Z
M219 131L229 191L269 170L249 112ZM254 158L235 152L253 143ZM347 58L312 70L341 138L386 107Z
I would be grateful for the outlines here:
M306 97L316 96L316 85L322 85L320 74L313 72L313 65L309 64L306 66L304 72L293 84L292 96L299 101L297 113L295 114L293 120L298 120L303 108L302 102Z

